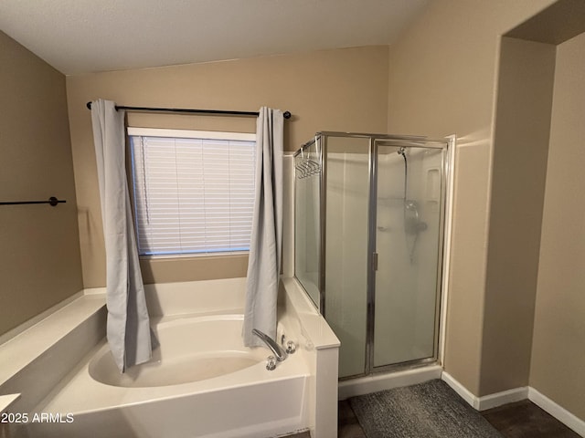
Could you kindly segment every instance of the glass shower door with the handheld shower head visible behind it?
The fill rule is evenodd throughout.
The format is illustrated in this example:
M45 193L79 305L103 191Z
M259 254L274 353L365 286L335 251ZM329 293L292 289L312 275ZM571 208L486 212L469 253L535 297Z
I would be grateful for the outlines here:
M437 354L446 159L444 143L378 141L376 150L371 370Z

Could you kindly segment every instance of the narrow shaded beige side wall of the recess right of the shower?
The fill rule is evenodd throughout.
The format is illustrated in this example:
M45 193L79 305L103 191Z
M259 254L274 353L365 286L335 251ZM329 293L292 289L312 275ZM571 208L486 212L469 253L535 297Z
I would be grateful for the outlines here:
M502 38L480 392L528 385L556 46Z

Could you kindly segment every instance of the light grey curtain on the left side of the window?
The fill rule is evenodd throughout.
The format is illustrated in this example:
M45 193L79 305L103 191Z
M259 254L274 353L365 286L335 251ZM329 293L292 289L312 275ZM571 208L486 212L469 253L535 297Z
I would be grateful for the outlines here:
M107 339L121 372L152 357L151 330L125 168L124 112L91 102L106 245Z

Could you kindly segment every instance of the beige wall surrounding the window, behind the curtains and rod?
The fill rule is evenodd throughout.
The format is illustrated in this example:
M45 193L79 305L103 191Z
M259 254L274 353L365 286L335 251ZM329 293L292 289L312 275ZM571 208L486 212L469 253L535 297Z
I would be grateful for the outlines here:
M90 111L92 99L120 105L210 110L290 110L285 149L318 130L385 132L388 47L360 47L280 57L118 71L67 78L69 125L79 208L85 287L105 283L105 256ZM253 119L130 114L133 126L255 130ZM146 282L245 276L246 258L143 263Z

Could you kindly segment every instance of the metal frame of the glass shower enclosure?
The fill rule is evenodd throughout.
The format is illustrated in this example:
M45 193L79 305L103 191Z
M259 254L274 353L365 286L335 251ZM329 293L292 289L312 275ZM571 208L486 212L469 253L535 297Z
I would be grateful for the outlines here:
M446 256L445 249L448 244L445 242L446 235L450 234L447 230L450 227L450 212L449 206L452 203L452 161L455 136L450 136L445 139L433 140L423 136L401 136L391 134L373 134L361 132L341 132L341 131L319 131L314 135L314 139L307 141L303 146L293 154L293 159L303 154L303 151L315 145L316 153L318 155L318 163L320 166L319 174L319 276L318 276L318 291L319 303L314 303L317 310L326 319L325 295L326 295L326 182L327 182L327 166L325 165L325 157L327 153L327 139L329 137L343 137L343 138L358 138L368 140L368 211L367 211L367 335L366 335L366 358L365 370L363 373L346 376L340 380L354 379L356 377L367 376L372 373L388 372L390 370L404 370L430 363L436 363L441 360L441 352L443 346L441 345L441 312L444 306L444 298L446 296ZM438 239L438 260L437 260L437 275L436 275L436 296L435 296L435 321L434 321L434 339L433 339L433 355L429 358L409 360L406 362L393 363L382 366L374 365L374 337L375 337L375 319L376 319L376 272L378 269L378 253L377 253L377 216L378 216L378 143L391 142L391 146L395 147L420 147L444 150L444 158L441 161L441 203L440 203L440 223L439 223L439 239ZM296 169L295 176L296 179ZM296 184L293 184L296 187ZM294 190L294 199L296 199L296 188ZM296 208L296 203L294 208ZM449 213L449 214L448 214ZM296 212L293 214L294 224L296 230ZM294 245L296 251L296 245ZM296 263L296 255L294 256ZM294 268L294 276L296 277L296 266ZM297 278L298 281L298 278ZM299 281L304 289L303 283ZM306 289L305 289L306 291ZM310 295L310 294L308 294ZM311 300L314 302L313 298Z

